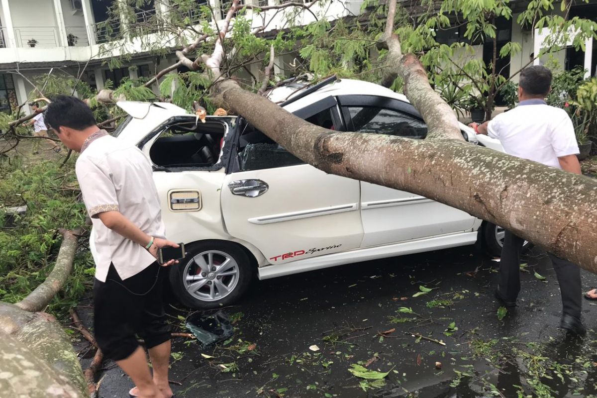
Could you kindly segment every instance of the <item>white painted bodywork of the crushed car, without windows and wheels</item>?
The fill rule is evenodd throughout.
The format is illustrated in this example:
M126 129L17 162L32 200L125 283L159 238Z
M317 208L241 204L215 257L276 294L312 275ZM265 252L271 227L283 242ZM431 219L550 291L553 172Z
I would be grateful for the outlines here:
M296 88L278 88L272 100L283 101L292 92L296 94ZM285 109L294 112L330 96L364 93L408 102L381 86L342 79ZM118 138L134 145L143 142L147 158L159 135L147 139L150 132L176 116L194 117L168 103L118 105L133 116ZM460 128L475 140L472 129L462 124ZM478 138L491 149L503 150L493 138ZM306 164L230 174L224 166L216 171L155 171L153 178L168 239L186 244L209 239L237 242L256 258L260 279L469 245L477 240L482 222L421 196L326 174ZM251 179L265 181L269 190L255 198L232 194L229 183ZM198 191L201 208L173 211L173 191Z

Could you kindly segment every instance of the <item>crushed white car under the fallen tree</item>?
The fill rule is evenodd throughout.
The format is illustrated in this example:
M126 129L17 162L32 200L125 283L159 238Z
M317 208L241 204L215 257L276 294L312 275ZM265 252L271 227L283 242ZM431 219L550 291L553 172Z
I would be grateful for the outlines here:
M291 82L269 97L337 131L427 132L404 95L368 82ZM152 162L168 239L186 245L170 282L188 307L232 303L256 274L267 279L478 241L499 254L503 230L493 224L423 196L322 172L242 118L208 116L197 124L170 103L118 104L130 116L114 135ZM501 150L498 141L461 129L471 145Z

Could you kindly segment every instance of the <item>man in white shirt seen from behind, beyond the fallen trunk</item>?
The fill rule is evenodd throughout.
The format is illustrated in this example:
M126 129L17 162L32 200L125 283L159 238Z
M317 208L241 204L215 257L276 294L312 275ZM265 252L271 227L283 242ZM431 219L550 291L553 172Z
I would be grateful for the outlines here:
M581 174L578 144L568 113L545 103L552 73L544 66L522 70L518 85L519 103L484 124L470 124L477 134L500 140L504 151L519 158ZM520 291L520 254L524 240L506 231L501 251L500 277L496 298L506 306L516 306ZM560 327L571 334L586 333L581 320L580 268L570 261L549 255L562 295Z

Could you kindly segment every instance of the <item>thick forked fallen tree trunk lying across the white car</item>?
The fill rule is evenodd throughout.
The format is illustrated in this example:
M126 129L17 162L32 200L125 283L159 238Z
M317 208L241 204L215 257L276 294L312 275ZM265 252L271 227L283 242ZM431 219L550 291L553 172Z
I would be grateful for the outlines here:
M432 89L427 83L424 90L421 64L402 59L405 91L421 109L434 99ZM464 210L597 273L597 182L591 178L458 140L456 116L432 106L423 110L430 137L411 140L316 127L232 81L217 90L219 106L316 168Z

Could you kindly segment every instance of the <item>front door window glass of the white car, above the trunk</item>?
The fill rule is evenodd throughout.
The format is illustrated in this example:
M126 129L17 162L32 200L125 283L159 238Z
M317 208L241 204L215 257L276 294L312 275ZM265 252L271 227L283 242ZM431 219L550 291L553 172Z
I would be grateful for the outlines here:
M406 138L425 138L427 126L407 113L376 106L345 107L352 118L353 131L398 135Z

